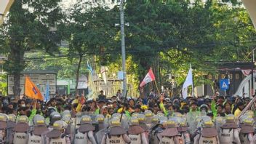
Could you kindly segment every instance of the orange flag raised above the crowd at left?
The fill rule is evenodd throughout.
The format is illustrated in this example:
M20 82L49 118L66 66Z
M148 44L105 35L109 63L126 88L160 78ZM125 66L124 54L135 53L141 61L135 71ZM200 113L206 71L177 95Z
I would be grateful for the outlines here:
M44 97L41 95L41 92L36 87L36 85L33 84L33 82L28 76L25 76L25 96L38 100L44 100Z

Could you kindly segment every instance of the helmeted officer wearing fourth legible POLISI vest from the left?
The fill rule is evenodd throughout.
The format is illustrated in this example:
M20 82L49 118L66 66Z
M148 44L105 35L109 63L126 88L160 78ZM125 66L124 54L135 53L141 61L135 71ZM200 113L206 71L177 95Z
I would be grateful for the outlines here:
M95 137L93 136L93 131L95 127L92 126L92 119L90 116L82 116L80 120L81 126L79 129L76 129L76 135L74 143L83 144L83 143L92 143L96 144Z

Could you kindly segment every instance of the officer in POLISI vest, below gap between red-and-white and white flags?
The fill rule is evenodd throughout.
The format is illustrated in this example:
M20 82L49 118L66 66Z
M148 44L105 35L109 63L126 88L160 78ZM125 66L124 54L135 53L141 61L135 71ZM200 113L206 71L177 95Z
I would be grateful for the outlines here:
M160 133L160 143L184 143L177 130L177 118L167 120L164 125L167 127Z

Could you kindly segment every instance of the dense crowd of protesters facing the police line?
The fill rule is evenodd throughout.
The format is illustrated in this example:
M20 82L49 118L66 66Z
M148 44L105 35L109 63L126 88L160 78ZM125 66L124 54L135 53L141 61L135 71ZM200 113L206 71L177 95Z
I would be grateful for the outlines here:
M224 97L220 95L212 97L187 97L183 99L182 97L167 97L164 94L156 95L153 91L148 95L147 99L138 97L127 98L127 100L124 100L120 91L117 95L109 98L104 95L103 91L100 91L100 95L97 96L97 99L90 100L87 99L87 97L84 97L84 95L76 95L76 97L73 97L72 95L55 95L55 97L52 97L47 103L39 100L32 100L28 97L23 97L21 100L18 100L17 97L1 97L0 113L5 113L8 116L14 114L16 116L15 119L26 116L28 118L29 126L35 124L35 116L42 116L44 117L44 123L47 127L52 125L52 119L50 117L52 111L60 113L60 115L63 115L63 112L65 113L65 111L69 111L71 117L76 117L78 113L90 113L94 116L103 116L108 123L116 117L117 113L122 113L127 121L134 119L133 117L136 117L137 114L143 113L146 117L146 113L151 113L152 122L150 121L149 124L153 124L153 116L163 115L167 119L171 119L177 116L177 113L180 113L180 115L186 119L188 125L187 131L189 137L191 137L190 143L193 143L193 137L195 137L195 132L198 130L198 125L195 124L195 122L199 117L208 116L212 122L215 122L217 121L216 119L220 119L221 117L225 119L226 116L233 115L235 121L237 121L241 111L243 111L245 106L248 105L251 100L252 98L250 97ZM252 105L252 108L250 109L252 110L253 118L255 117L254 108L255 105ZM161 121L160 116L156 123L162 124L161 122L163 121ZM147 142L141 143L159 143L150 140L150 135L153 135L151 133L153 126L150 127L148 125L148 128L145 128L144 130L148 132ZM92 141L99 143L98 141L101 140ZM128 142L124 143L130 142L128 140Z

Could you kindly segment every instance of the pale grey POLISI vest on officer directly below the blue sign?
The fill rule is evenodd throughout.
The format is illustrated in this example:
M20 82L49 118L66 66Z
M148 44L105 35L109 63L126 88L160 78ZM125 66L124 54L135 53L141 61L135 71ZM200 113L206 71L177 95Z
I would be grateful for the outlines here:
M220 128L219 132L220 143L232 143L233 142L233 129Z

